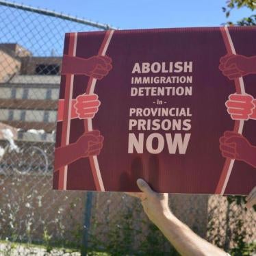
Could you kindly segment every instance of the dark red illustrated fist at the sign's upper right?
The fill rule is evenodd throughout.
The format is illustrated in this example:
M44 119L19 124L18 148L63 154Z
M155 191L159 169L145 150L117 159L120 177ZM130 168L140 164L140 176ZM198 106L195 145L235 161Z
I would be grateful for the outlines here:
M220 71L229 79L256 73L256 56L227 54L220 58Z

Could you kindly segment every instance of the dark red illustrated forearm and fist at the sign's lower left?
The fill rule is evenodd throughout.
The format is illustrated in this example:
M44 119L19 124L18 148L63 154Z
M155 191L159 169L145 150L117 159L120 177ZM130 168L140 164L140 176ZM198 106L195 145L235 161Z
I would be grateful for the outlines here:
M99 155L103 147L103 136L98 130L85 132L75 143L55 149L54 170L75 162L81 157Z

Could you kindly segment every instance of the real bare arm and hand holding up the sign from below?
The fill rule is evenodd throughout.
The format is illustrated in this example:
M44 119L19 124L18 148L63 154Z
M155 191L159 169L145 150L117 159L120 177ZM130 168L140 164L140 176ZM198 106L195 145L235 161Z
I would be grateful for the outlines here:
M141 200L146 215L181 255L227 256L225 251L200 238L199 235L196 235L187 225L172 214L168 207L168 194L154 192L146 181L142 179L138 179L137 184L142 193L129 194Z

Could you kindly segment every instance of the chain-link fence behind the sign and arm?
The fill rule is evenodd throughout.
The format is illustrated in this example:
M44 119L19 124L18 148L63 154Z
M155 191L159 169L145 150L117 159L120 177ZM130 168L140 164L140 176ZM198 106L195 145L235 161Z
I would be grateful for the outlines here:
M136 199L52 190L64 33L110 26L3 1L0 17L0 255L176 255ZM253 209L207 195L170 205L203 238L253 254Z

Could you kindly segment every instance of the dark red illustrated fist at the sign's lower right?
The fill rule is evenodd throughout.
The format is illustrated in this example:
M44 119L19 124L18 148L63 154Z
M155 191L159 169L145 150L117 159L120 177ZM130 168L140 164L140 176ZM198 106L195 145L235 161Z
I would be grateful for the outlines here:
M225 131L220 137L220 151L223 157L244 161L256 168L256 146L239 133Z

